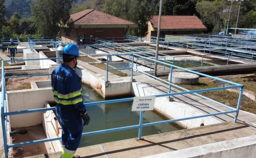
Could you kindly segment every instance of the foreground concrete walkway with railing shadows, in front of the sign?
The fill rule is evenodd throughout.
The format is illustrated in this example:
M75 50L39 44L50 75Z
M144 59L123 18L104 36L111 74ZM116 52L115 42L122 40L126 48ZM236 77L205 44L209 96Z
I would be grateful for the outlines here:
M80 155L81 158L139 158L192 148L204 144L210 144L214 147L214 143L228 143L230 140L254 135L256 135L256 130L250 126L243 123L226 122L145 136L142 140L133 138L78 148L75 155ZM256 143L256 140L254 142ZM211 151L215 151L215 148L212 148ZM61 152L28 158L59 158L60 155ZM152 156L150 158L159 157Z

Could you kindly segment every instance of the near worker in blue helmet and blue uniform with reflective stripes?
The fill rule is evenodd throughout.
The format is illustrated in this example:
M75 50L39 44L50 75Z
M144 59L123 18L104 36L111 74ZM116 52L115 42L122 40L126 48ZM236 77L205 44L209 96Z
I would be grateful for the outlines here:
M52 89L56 113L62 127L61 158L74 156L79 146L83 125L88 125L90 117L83 103L81 78L73 70L77 66L79 49L75 44L67 44L63 50L63 63L52 72ZM84 124L82 123L82 119Z

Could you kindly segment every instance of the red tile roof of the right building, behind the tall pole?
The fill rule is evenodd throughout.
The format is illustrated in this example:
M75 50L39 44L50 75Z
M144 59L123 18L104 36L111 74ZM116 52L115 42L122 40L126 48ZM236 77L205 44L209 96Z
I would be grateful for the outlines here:
M152 26L157 29L158 16L152 16ZM161 29L207 29L197 16L162 16Z

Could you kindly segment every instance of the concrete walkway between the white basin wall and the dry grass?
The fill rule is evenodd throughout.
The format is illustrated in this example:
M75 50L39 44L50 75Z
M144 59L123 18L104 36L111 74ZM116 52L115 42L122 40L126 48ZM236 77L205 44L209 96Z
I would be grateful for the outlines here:
M123 78L127 78L127 77L123 77ZM141 88L144 88L144 91L145 91L145 88L147 87L153 87L156 90L161 91L162 94L168 93L169 86L149 76L139 75L139 76L134 76L133 78L136 80L136 82L144 83L144 85L141 87ZM171 92L179 92L175 88L171 88L171 90L172 90ZM144 96L144 94L140 94L140 95ZM206 99L203 99L201 97L197 97L191 94L174 96L174 102L172 103L176 104L180 102L185 103L189 107L197 111L200 111L204 114L229 111L229 109L226 107L222 107L219 104L210 102ZM220 122L230 122L230 121L232 122L234 121L235 113L218 115L218 116L214 116L213 118L219 120ZM246 124L256 128L255 114L240 110L238 120L241 122L245 122Z

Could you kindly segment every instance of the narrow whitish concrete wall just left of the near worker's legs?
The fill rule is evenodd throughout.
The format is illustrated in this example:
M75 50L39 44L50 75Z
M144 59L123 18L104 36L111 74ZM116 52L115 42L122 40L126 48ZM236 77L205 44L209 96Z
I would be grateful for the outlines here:
M50 107L48 102L45 102L45 107ZM59 121L56 119L56 116L54 112L51 111L46 111L42 112L42 119L43 119L43 128L45 135L47 138L56 138L56 137L61 137L61 129L60 129L60 124ZM53 152L59 152L62 151L62 146L61 146L61 141L56 140L56 141L51 141L49 142L51 149Z

